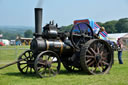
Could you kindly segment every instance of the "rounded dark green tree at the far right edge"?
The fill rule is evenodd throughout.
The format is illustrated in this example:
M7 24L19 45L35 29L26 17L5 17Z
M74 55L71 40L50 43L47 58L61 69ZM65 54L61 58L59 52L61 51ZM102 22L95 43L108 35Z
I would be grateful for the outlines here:
M128 18L120 19L115 27L118 33L128 32Z

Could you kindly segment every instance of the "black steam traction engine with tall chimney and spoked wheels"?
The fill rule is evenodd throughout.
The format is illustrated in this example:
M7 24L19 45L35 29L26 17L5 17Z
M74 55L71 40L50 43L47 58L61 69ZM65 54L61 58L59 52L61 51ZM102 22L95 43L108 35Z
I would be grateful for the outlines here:
M22 53L17 63L21 73L50 77L59 73L61 62L68 71L106 74L113 61L113 50L94 36L87 23L74 24L70 33L58 32L50 22L43 27L42 9L35 8L35 33L30 50Z

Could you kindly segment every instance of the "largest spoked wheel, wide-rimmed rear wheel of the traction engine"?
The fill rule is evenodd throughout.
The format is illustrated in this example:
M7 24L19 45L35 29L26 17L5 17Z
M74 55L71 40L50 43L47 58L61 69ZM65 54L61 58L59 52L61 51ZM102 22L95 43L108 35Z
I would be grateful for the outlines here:
M112 67L112 49L106 41L92 39L81 48L80 61L85 72L106 74Z

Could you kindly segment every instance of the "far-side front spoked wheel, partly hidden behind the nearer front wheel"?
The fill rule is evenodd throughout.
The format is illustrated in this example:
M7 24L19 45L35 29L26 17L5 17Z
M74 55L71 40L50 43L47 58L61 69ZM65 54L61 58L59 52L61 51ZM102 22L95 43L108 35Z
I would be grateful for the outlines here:
M33 52L31 50L27 50L24 53L22 53L18 60L23 59L23 61L20 61L17 63L18 69L21 73L27 74L27 73L35 73L34 70L34 57Z

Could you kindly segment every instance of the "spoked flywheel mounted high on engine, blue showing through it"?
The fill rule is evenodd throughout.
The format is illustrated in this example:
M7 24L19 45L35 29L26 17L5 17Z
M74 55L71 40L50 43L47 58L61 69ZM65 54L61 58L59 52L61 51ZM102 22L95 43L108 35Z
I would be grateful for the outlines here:
M87 23L78 23L72 27L70 32L71 42L76 49L81 48L88 40L93 39L93 30Z

